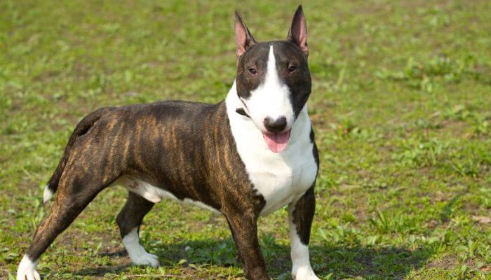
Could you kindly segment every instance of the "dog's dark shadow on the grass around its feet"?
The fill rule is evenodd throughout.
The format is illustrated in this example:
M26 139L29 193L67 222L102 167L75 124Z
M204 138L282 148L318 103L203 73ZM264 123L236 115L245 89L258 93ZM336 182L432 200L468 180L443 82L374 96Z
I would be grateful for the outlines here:
M161 265L183 267L213 264L223 267L239 266L241 261L236 257L236 248L231 239L203 239L184 241L177 244L161 244L152 241L144 242L149 251L159 255ZM267 269L273 279L291 279L290 246L277 244L271 236L262 236L261 248L267 262ZM310 255L314 271L321 279L403 279L411 270L418 269L431 257L430 247L414 250L393 246L370 248L356 245L321 246L311 244ZM111 257L126 255L124 250L112 253L101 252L100 255ZM186 260L183 262L182 260ZM192 266L192 265L191 265ZM75 274L81 276L103 276L107 273L126 271L130 265L82 269ZM330 276L330 277L329 277Z

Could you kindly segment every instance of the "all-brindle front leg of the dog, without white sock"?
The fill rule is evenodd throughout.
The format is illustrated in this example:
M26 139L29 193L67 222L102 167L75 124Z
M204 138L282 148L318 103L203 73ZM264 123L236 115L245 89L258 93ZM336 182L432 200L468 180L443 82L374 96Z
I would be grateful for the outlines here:
M269 280L257 239L257 215L252 211L227 211L239 257L243 260L245 277L249 280Z

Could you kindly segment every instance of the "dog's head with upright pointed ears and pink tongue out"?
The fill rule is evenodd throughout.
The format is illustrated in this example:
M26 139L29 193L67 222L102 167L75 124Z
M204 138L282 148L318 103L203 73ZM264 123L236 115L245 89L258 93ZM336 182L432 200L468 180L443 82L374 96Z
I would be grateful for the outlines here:
M271 151L283 151L311 91L307 23L302 6L285 41L257 43L236 13L237 94Z

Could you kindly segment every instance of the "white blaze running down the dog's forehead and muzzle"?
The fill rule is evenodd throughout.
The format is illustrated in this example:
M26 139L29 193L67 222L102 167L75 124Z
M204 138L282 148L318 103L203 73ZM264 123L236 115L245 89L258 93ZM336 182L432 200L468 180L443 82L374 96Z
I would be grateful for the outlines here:
M278 76L273 45L269 47L264 82L255 90L251 90L250 97L243 99L243 102L247 106L249 116L262 132L267 132L264 127L264 119L267 117L273 120L285 117L287 122L285 130L290 130L292 127L295 117L290 102L290 89L281 82Z

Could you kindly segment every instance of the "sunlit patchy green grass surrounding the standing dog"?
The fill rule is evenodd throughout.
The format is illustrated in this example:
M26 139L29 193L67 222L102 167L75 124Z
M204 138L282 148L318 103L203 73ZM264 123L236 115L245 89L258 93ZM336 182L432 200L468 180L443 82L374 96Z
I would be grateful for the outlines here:
M285 38L292 1L0 1L0 278L74 125L161 99L218 102L235 71L233 10ZM491 2L307 1L321 152L311 261L321 279L490 279ZM105 190L41 258L46 279L241 279L227 223L174 202L145 219L159 269L130 266ZM274 279L290 279L286 211L262 218Z

